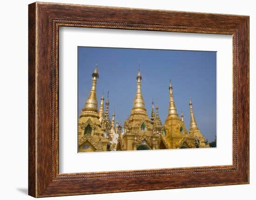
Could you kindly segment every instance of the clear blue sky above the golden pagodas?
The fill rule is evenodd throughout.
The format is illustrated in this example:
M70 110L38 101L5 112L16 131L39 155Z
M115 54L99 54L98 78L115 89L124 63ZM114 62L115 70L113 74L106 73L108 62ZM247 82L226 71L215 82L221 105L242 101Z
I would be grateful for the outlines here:
M125 48L78 47L78 115L89 95L92 72L98 63L97 100L109 91L110 120L124 122L130 115L136 94L136 76L140 63L141 93L148 116L151 102L158 103L162 123L168 114L169 80L179 116L189 131L189 97L195 120L209 142L216 135L216 52L175 51ZM157 100L156 100L157 99Z

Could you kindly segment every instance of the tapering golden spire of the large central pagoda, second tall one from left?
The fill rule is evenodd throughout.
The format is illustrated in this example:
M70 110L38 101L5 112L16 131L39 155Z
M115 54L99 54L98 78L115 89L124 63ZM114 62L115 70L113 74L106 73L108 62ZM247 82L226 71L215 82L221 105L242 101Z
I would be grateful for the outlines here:
M133 110L143 110L146 111L145 109L145 103L141 94L141 71L138 71L137 74L137 92L136 92L136 96L133 102Z

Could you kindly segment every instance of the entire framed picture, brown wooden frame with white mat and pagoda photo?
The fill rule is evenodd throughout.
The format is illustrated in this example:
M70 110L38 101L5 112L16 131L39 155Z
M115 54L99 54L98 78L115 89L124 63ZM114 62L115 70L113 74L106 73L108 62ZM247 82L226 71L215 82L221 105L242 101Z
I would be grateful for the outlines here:
M249 16L28 7L29 195L249 183Z

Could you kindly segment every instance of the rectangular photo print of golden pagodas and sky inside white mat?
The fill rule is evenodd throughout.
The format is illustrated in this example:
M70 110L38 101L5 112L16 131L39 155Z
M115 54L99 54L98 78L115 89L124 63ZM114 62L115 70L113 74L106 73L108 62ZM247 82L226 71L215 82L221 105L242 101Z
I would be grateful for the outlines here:
M78 47L78 153L216 148L216 52Z

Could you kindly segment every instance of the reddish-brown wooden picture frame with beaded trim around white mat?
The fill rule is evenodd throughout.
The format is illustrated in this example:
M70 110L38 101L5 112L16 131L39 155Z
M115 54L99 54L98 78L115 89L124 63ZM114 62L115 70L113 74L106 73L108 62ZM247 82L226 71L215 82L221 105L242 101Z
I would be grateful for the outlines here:
M29 195L48 197L249 183L249 16L38 2L28 8ZM233 164L59 174L60 26L232 35Z

